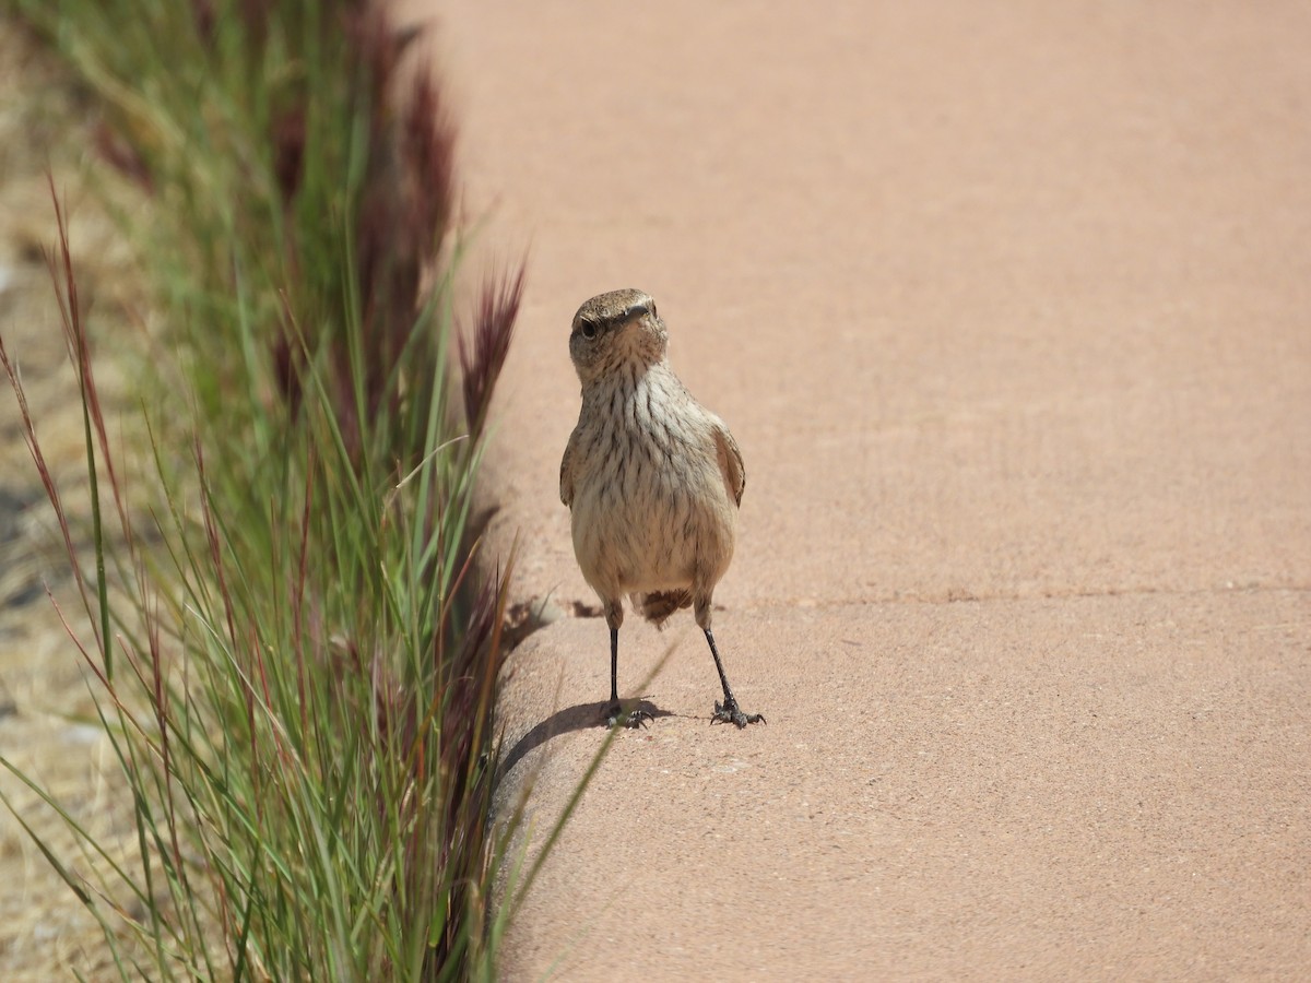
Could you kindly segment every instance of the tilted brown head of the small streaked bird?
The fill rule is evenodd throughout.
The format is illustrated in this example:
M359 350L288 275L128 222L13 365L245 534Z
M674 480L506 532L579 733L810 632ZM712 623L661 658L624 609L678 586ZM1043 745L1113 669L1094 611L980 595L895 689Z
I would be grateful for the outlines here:
M656 301L640 290L612 290L578 308L569 334L569 357L583 385L623 366L661 362L669 347Z

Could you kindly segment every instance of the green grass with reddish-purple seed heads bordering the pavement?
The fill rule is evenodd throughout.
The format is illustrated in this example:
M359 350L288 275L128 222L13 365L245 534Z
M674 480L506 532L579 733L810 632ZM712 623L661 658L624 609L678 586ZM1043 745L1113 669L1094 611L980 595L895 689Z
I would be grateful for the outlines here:
M0 358L94 625L77 646L136 849L67 811L85 858L37 844L125 979L490 974L509 570L479 582L469 510L522 271L471 305L454 384L440 89L402 71L412 37L367 3L18 8L102 101L97 143L147 195L125 223L163 320L151 465L132 473L56 197L94 575Z

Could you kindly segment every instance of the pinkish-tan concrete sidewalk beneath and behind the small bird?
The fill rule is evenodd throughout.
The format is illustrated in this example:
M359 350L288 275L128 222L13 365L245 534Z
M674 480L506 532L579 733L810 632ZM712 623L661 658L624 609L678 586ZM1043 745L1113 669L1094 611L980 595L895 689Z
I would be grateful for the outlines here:
M569 320L650 292L747 489L509 979L1232 978L1311 965L1311 8L412 0L475 210L531 244L494 533L556 495ZM604 623L511 657L540 835Z

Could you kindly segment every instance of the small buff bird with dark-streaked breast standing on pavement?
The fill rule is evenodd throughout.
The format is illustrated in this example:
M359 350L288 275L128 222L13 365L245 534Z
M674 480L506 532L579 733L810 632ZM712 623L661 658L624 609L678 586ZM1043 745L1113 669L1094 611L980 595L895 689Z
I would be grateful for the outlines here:
M582 410L560 461L574 554L610 625L610 704L619 704L623 598L657 626L691 607L705 632L724 703L713 721L764 722L738 708L711 632L711 596L729 569L746 486L742 452L724 421L683 387L666 358L669 333L656 301L616 290L578 308L569 357L582 381ZM649 714L633 710L625 723Z

